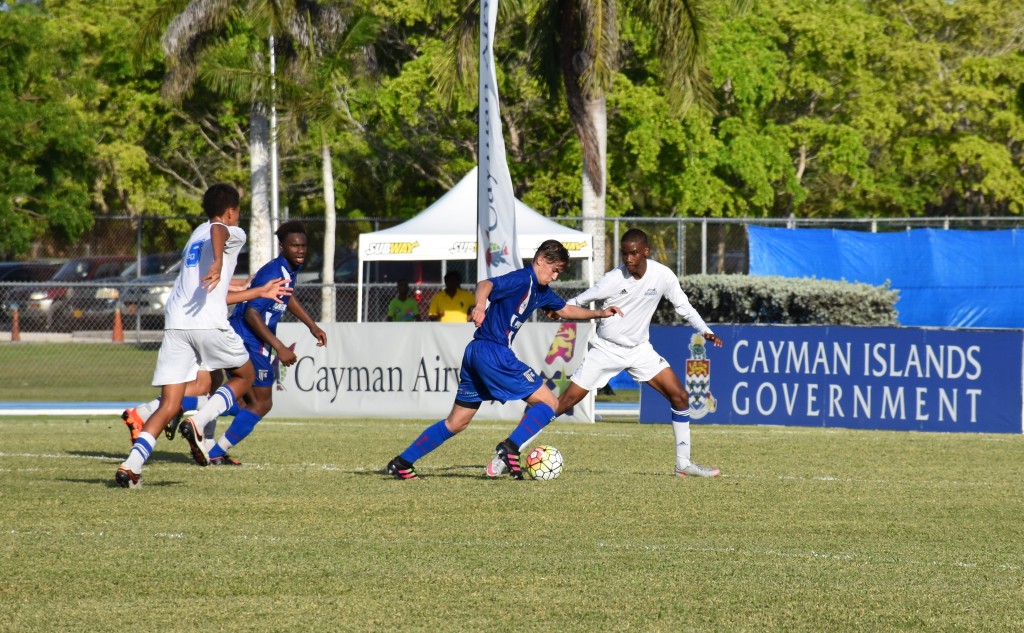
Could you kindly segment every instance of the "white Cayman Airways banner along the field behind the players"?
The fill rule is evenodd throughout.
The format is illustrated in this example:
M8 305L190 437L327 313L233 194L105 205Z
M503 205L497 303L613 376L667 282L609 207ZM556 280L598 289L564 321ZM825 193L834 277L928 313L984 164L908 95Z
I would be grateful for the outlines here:
M459 367L472 324L319 324L327 347L305 326L283 323L278 338L295 350L292 367L276 366L274 418L410 418L447 416L459 388ZM516 354L557 395L583 360L592 323L531 323L516 336ZM525 404L484 403L477 419L518 420ZM594 396L560 421L594 421Z

